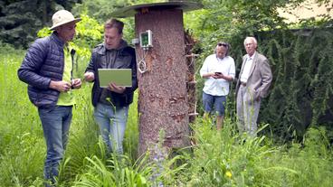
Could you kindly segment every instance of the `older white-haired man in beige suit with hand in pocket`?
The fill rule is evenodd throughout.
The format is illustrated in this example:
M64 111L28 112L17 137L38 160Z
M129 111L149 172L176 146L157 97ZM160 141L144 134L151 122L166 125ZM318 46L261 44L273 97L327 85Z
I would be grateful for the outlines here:
M246 53L236 85L238 129L251 136L257 133L257 118L262 98L267 96L271 86L271 67L265 56L257 50L257 40L246 37Z

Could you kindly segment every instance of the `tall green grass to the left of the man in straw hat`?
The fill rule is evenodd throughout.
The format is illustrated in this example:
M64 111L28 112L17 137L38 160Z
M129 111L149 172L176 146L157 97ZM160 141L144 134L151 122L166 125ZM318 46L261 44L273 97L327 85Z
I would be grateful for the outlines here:
M2 48L0 55L0 183L25 186L43 176L43 131L26 86L17 80L23 51Z

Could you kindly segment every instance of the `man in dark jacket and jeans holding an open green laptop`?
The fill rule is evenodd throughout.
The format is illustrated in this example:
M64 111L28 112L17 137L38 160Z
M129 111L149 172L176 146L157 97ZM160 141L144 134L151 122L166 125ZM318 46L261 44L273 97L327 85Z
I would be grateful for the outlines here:
M84 73L84 79L94 82L92 105L95 108L95 120L100 126L100 135L107 145L108 153L113 151L118 154L123 154L122 141L128 120L128 106L133 102L133 93L138 88L136 54L134 48L122 39L123 27L124 23L116 19L110 19L104 24L104 42L93 49ZM119 86L116 69L130 70L130 85ZM124 73L120 77L128 79Z

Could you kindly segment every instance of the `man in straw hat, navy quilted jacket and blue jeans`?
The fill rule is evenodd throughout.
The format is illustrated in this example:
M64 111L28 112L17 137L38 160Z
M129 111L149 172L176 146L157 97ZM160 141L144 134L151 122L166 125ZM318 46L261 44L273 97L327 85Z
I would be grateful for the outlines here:
M68 45L80 21L66 10L53 14L52 35L33 42L18 70L19 79L28 84L29 98L38 108L42 121L47 146L44 178L52 184L58 176L71 126L71 110L75 104L72 89L81 88L81 79L72 77L75 51Z

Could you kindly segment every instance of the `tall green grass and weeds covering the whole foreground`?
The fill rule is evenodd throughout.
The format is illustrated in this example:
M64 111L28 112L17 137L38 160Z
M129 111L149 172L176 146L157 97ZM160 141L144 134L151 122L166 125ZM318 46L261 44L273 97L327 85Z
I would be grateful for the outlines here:
M23 57L24 51L0 49L0 186L6 187L43 186L43 130L26 85L16 76ZM332 185L332 147L323 128L309 128L303 142L274 145L265 136L238 135L229 117L221 132L199 117L192 126L196 144L191 151L168 156L157 147L159 159L138 158L137 101L129 110L125 154L106 155L92 117L90 90L88 83L75 90L78 104L59 186Z

